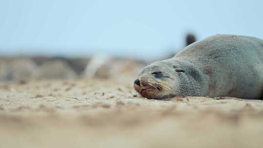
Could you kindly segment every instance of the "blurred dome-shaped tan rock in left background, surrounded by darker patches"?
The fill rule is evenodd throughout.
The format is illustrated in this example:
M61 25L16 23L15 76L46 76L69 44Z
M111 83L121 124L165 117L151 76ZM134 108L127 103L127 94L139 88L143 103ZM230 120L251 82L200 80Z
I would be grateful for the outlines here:
M77 74L63 60L44 62L34 73L37 79L75 79Z

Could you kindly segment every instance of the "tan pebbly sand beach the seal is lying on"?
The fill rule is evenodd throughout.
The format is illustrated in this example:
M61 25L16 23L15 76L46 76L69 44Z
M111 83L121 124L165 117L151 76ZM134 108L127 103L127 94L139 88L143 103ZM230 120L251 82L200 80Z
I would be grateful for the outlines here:
M263 101L146 99L132 78L0 83L0 148L262 148Z

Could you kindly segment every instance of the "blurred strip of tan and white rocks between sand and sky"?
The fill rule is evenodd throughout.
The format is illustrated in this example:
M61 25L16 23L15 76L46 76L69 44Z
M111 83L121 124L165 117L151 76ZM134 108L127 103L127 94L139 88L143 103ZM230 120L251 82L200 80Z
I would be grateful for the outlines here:
M92 58L3 57L0 80L135 77L146 62L107 55Z

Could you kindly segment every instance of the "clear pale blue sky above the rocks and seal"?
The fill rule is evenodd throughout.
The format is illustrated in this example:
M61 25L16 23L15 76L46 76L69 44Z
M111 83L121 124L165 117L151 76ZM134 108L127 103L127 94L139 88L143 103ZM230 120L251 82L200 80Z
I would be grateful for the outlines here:
M158 57L188 32L263 38L263 2L0 0L0 54Z

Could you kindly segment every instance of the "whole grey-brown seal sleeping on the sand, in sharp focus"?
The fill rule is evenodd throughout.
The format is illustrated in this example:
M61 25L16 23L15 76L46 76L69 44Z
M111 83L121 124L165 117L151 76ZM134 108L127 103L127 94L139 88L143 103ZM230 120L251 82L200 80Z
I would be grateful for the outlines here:
M263 40L215 35L143 68L134 89L146 98L231 96L262 99Z

